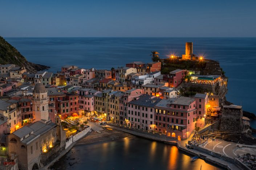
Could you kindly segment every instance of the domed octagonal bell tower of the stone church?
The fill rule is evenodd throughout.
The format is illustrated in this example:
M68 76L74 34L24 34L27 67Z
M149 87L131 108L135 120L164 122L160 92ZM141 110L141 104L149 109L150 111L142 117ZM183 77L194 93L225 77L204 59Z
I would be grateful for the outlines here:
M41 121L46 123L50 120L48 111L49 97L45 86L40 82L34 86L32 98L32 111L34 122Z

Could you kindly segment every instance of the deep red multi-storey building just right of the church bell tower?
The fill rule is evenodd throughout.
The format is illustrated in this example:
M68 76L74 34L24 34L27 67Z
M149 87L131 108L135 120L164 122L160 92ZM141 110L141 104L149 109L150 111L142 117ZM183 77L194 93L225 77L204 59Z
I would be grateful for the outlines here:
M61 119L72 116L74 113L79 114L78 94L65 93L65 97L56 101L57 115Z

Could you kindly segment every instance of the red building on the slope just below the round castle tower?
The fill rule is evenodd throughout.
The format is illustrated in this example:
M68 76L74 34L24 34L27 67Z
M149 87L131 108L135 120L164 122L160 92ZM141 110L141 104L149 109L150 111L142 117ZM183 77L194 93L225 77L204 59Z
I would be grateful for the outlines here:
M168 82L168 87L177 87L179 86L184 77L186 70L177 69L174 71L171 71L168 75L163 75L163 80Z

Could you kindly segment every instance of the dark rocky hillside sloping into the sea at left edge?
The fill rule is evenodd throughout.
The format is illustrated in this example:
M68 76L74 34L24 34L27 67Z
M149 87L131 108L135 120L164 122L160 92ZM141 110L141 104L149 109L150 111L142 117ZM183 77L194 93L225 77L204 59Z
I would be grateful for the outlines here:
M34 64L20 54L20 52L0 36L0 64L15 64L26 67L29 72L36 72L49 67L41 64Z

